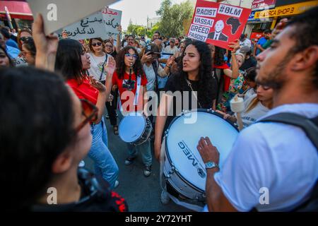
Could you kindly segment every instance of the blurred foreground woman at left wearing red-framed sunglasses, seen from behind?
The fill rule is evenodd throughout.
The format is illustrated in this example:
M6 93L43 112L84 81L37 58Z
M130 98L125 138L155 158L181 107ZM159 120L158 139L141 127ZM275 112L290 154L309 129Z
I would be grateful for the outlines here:
M32 67L0 69L0 102L0 179L6 184L1 202L6 210L128 210L118 194L98 187L86 170L78 172L92 143L89 121L97 117L95 105L79 100L57 74ZM55 200L50 198L54 192Z

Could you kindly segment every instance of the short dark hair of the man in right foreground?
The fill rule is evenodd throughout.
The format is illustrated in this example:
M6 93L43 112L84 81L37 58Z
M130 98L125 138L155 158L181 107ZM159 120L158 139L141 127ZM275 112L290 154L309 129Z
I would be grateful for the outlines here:
M292 48L293 53L301 52L310 46L318 45L318 6L311 8L305 13L293 17L287 24L288 26L295 26L297 29L293 30L290 38L296 41ZM314 71L313 84L318 88L318 64Z

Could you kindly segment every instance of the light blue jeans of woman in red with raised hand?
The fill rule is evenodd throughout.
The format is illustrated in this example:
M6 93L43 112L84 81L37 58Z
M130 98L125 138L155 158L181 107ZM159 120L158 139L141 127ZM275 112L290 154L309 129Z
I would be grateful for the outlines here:
M119 169L112 153L107 148L107 130L104 118L100 124L90 125L90 133L92 133L93 141L88 156L94 161L96 178L105 179L113 189L118 179Z

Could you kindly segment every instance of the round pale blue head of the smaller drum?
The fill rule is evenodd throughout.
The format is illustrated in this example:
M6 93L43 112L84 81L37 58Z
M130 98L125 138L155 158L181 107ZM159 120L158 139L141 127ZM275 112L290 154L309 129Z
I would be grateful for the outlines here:
M139 113L133 112L124 117L119 124L119 137L126 143L137 141L146 127L146 119Z

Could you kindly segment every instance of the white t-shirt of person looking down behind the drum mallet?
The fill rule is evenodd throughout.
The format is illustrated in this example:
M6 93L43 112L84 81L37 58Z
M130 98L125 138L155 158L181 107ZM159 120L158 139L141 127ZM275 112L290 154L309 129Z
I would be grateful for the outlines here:
M245 128L253 124L261 117L264 117L264 115L269 112L269 109L262 105L261 102L258 102L252 110L246 112L247 107L249 107L249 104L252 102L252 100L254 100L255 97L257 97L257 95L252 95L244 102L245 112L242 112L241 117Z

